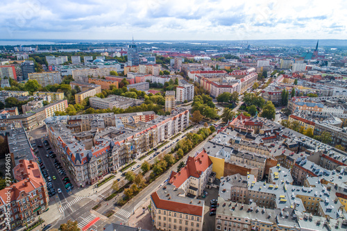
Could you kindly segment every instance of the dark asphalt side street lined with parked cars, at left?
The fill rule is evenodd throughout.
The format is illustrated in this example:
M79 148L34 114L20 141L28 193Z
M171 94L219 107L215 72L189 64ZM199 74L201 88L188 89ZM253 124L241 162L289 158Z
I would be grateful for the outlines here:
M69 191L73 186L71 183L69 184L64 167L56 159L49 143L42 142L41 139L35 139L35 153L42 175L47 182L49 196L58 194L60 200L69 197Z

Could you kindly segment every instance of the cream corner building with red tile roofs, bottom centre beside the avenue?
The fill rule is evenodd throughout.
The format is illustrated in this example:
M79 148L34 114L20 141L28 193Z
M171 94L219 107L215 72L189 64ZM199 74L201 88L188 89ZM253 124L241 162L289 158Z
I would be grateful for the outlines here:
M188 157L169 181L151 194L151 217L158 230L203 230L204 201L186 197L200 196L212 173L212 162L205 151Z

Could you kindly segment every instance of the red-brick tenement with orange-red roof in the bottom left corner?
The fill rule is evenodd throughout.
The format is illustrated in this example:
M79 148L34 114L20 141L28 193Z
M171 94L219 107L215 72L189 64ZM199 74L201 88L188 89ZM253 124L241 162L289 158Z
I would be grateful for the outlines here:
M25 227L46 211L49 205L46 182L36 162L19 160L13 173L17 182L0 190L0 207L4 203L10 205L10 226L1 223L1 230L15 230L19 225Z

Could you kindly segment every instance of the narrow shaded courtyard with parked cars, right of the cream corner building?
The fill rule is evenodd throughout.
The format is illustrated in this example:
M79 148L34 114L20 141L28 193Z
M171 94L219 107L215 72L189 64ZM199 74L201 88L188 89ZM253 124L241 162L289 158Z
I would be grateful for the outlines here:
M202 196L198 196L198 199L205 200L205 209L203 211L204 217L203 217L203 230L214 230L214 223L216 216L212 215L210 216L210 207L211 207L211 200L217 199L218 200L218 189L205 189L205 191L208 192L208 196L203 198Z

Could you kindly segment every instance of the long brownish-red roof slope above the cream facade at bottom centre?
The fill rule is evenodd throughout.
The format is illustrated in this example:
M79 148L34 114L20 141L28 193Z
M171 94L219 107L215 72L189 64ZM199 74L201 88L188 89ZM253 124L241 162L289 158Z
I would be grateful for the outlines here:
M185 214L192 214L196 216L203 216L203 206L190 205L186 203L179 203L172 200L162 200L159 198L157 192L151 194L151 198L158 209L165 209L175 212L182 212Z

